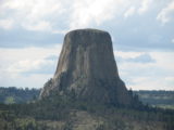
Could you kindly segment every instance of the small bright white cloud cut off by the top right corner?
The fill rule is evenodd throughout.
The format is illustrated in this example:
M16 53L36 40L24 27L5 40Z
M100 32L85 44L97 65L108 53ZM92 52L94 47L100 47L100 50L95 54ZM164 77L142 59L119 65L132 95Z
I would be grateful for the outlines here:
M163 24L169 23L174 18L174 1L170 2L164 9L160 11L157 20Z

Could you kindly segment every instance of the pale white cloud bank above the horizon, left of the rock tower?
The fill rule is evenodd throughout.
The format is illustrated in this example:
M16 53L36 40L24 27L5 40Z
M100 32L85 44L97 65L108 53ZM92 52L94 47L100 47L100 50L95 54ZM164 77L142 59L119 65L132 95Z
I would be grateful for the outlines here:
M0 86L42 87L53 76L57 62L47 58L60 54L62 46L52 48L3 49L0 48Z

